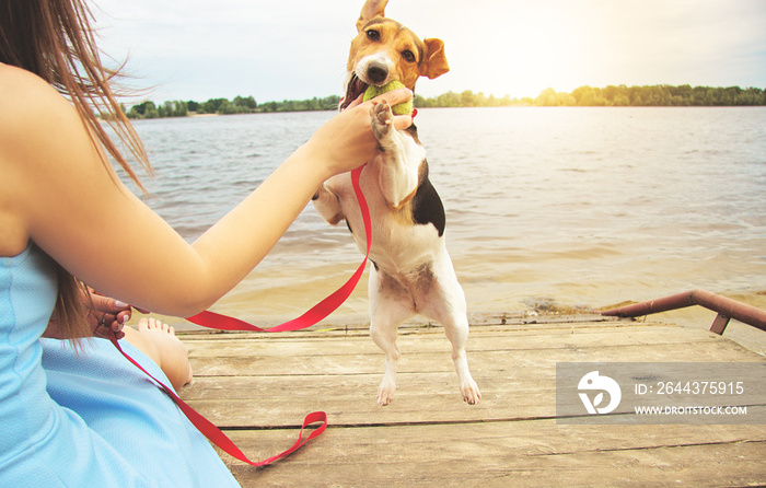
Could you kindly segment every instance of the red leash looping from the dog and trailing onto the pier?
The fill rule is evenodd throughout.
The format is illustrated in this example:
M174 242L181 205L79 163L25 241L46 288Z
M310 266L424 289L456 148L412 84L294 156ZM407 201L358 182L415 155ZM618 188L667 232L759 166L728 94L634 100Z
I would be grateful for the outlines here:
M335 312L338 309L338 306L340 306L346 301L346 299L348 299L348 297L351 294L357 283L359 282L359 279L364 272L367 259L370 256L370 246L372 245L372 223L370 219L370 209L367 206L364 194L362 193L361 187L359 186L359 176L361 175L363 167L363 165L359 166L351 172L351 183L353 185L353 191L357 195L357 199L359 200L359 209L362 212L362 219L364 221L367 253L364 255L364 260L362 260L362 264L359 265L359 268L343 287L333 292L326 299L322 300L316 305L312 306L300 317L293 318L292 321L288 321L283 324L277 325L271 328L264 329L247 322L240 321L239 318L208 311L188 317L187 321L193 322L197 325L217 328L221 330L255 330L278 333L285 330L300 330L302 328L311 327L312 325L317 324L320 321L325 318L327 315ZM248 460L247 456L245 456L244 453L234 444L234 442L232 442L231 439L229 439L223 432L221 432L221 430L218 427L216 427L210 420L206 419L205 417L199 415L194 408L189 407L188 404L181 399L172 388L170 388L161 381L156 380L154 376L149 374L149 372L141 368L141 365L138 362L136 362L131 357L126 355L123 351L123 348L119 347L119 342L114 336L112 337L112 342L115 345L117 350L119 350L119 352L121 352L123 356L125 356L128 359L128 361L130 361L139 370L143 371L143 373L147 374L147 376L151 377L162 388L162 391L164 391L165 394L167 394L167 396L170 396L171 399L175 402L175 404L186 415L189 421L192 421L192 423L206 438L208 438L210 442L219 446L224 452L229 453L231 456L242 461L243 463L247 463L252 466L266 466L267 464L271 464L272 462L293 453L310 440L321 435L322 432L324 432L327 428L327 414L325 414L324 411L314 411L312 414L309 414L305 417L305 419L303 419L303 425L301 426L301 431L298 434L298 440L292 445L292 448L288 449L287 451L280 454L277 454L276 456L269 457L268 460L253 462ZM322 426L317 427L313 432L311 432L311 434L307 438L303 439L303 429L316 422L322 422Z

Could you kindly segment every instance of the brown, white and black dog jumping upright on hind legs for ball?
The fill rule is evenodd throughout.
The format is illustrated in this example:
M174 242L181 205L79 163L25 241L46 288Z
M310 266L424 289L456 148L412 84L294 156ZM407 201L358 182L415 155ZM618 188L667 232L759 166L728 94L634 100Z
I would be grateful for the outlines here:
M340 109L369 85L396 80L410 90L420 77L437 78L449 71L444 43L420 40L411 31L384 16L387 0L367 0L357 21L347 63L346 96ZM428 179L426 150L416 127L393 129L387 103L371 109L372 128L381 153L364 167L360 186L372 219L370 251L370 334L385 352L385 373L378 404L392 402L396 391L399 350L397 328L421 314L442 324L452 342L460 391L471 405L479 402L476 382L468 371L465 342L468 319L463 289L457 282L444 243L444 207ZM357 246L367 248L362 216L350 173L326 181L314 195L314 206L330 224L341 220Z

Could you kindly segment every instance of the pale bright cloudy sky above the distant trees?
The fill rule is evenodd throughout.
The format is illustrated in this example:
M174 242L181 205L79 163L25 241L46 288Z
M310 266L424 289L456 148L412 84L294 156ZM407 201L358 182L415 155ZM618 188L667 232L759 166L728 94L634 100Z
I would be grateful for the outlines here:
M341 95L360 0L93 0L102 50L139 98ZM416 93L536 97L610 84L766 88L766 0L391 0L444 40ZM138 102L139 100L134 100Z

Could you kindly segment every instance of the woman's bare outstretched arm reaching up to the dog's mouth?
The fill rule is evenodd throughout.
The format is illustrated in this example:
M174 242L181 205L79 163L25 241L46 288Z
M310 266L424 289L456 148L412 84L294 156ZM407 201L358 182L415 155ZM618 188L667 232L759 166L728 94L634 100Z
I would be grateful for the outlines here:
M411 97L385 94L396 104ZM176 316L198 313L271 249L318 185L378 151L370 102L322 126L248 197L186 243L132 195L76 109L37 77L0 65L0 255L32 240L98 291ZM403 128L409 117L397 117Z

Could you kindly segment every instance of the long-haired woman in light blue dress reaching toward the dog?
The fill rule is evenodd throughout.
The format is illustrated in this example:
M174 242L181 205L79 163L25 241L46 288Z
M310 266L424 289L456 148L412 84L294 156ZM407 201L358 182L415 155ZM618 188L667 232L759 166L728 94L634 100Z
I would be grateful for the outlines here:
M0 0L0 486L235 485L199 433L108 342L81 341L78 352L49 340L44 352L39 337L51 313L51 336L92 335L83 282L165 315L207 309L260 262L323 181L375 154L371 102L327 121L187 244L108 161L135 178L92 107L148 167L90 18L83 0ZM386 94L392 104L410 97Z

